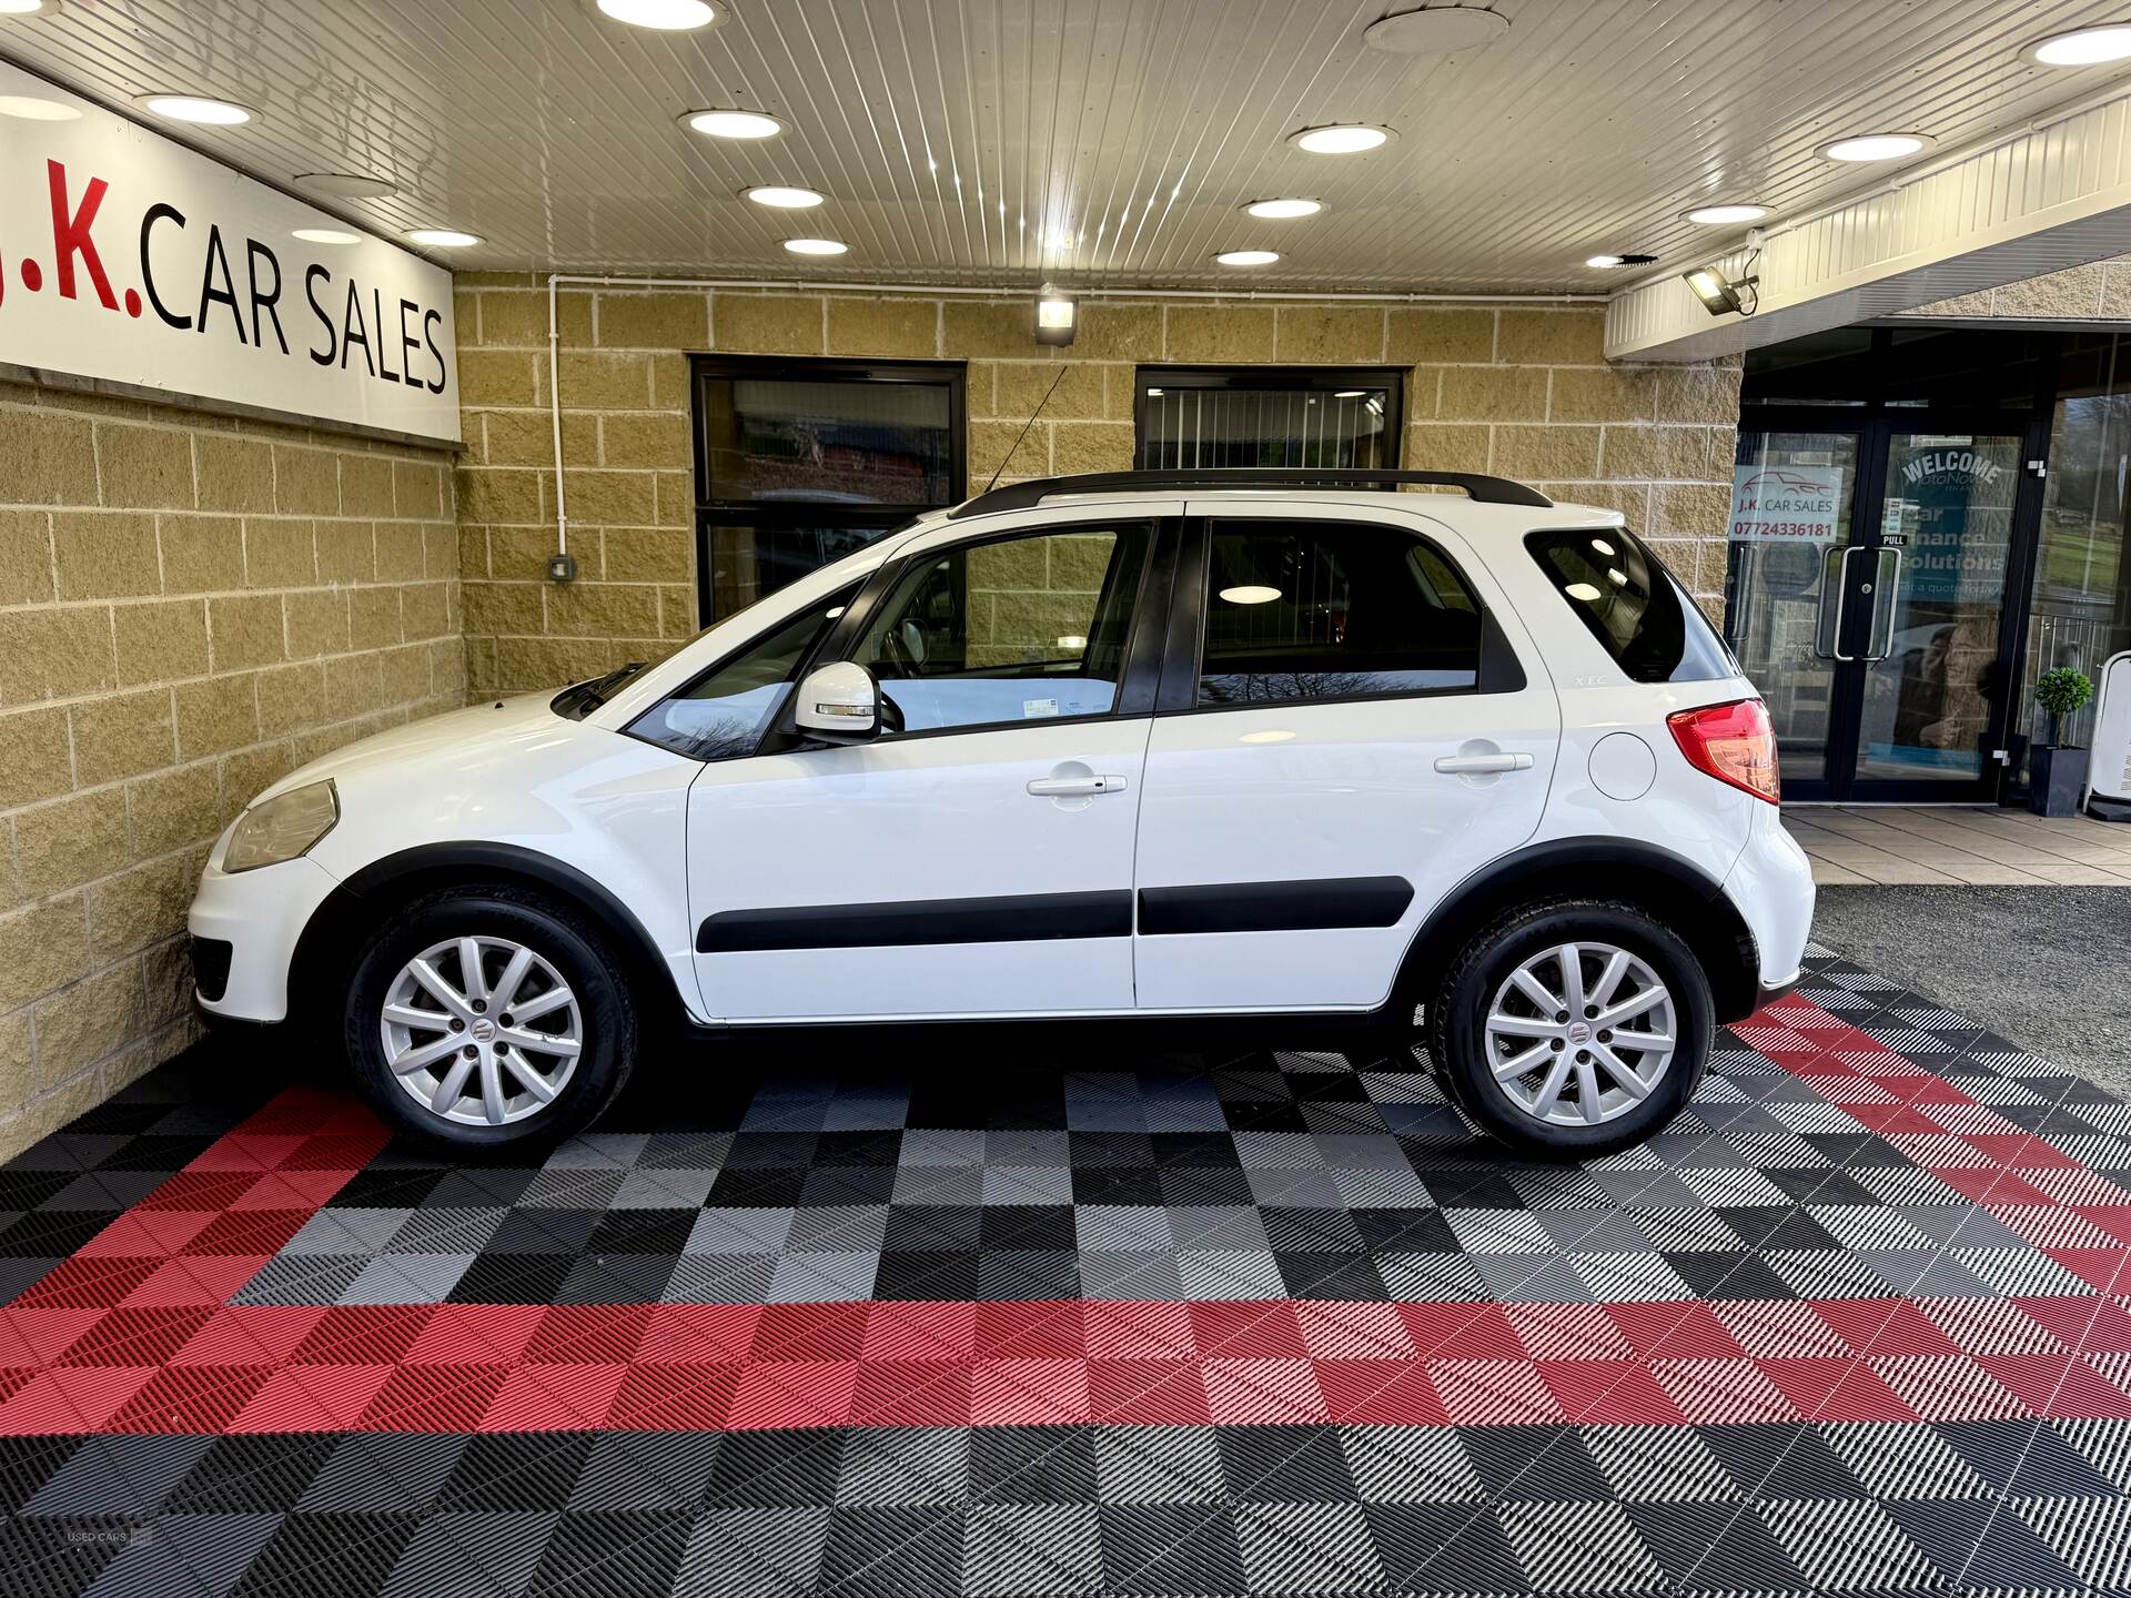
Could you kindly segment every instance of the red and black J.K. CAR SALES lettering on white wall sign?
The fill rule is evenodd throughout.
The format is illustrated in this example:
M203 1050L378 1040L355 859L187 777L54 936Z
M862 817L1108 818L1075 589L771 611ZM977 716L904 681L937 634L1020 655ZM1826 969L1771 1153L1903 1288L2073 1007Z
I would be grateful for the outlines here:
M294 286L273 243L226 239L219 224L196 224L166 200L149 205L139 226L124 230L126 245L132 245L124 260L139 286L121 290L104 258L104 237L117 241L121 230L104 226L104 237L98 234L111 196L109 179L75 175L64 162L47 160L45 181L49 256L23 251L15 262L13 292L0 271L0 309L23 313L26 305L15 300L49 288L62 300L87 296L104 311L124 309L134 320L151 311L166 328L234 339L256 349L277 347L283 356L296 347L283 322L283 311L290 311L313 364L349 373L360 369L379 381L443 392L450 366L437 339L443 328L439 309L403 294L388 298L354 275L337 281L322 262L303 266L303 309L296 309L290 305ZM0 241L0 254L6 243Z

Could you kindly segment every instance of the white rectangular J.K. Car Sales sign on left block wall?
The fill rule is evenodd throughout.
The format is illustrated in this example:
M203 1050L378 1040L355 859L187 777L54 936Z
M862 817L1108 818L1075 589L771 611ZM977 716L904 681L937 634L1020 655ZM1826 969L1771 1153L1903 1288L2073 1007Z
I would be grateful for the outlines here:
M0 362L458 441L452 275L0 62ZM72 115L64 115L72 113Z

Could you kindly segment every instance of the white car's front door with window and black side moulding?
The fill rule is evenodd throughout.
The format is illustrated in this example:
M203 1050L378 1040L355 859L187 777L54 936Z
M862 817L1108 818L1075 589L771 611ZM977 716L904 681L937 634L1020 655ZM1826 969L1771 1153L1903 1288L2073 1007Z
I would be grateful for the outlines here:
M899 724L846 748L771 733L690 788L712 1016L1132 1010L1151 684L1123 690L1153 537L927 533L861 594L816 665L863 661Z

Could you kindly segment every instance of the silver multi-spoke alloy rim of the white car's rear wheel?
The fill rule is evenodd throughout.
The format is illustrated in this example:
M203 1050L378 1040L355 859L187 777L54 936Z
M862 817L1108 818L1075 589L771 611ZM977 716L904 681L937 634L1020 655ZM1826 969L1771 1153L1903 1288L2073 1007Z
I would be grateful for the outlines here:
M1487 1070L1534 1121L1596 1127L1664 1080L1679 1046L1673 993L1613 944L1556 944L1528 957L1487 1006Z

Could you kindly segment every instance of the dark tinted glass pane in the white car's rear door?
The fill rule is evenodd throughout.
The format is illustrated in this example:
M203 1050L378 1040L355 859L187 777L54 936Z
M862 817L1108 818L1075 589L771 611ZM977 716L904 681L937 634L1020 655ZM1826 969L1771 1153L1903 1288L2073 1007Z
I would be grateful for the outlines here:
M1411 533L1364 522L1219 522L1200 705L1470 692L1479 603Z

